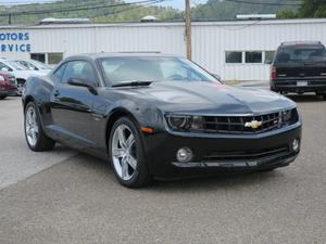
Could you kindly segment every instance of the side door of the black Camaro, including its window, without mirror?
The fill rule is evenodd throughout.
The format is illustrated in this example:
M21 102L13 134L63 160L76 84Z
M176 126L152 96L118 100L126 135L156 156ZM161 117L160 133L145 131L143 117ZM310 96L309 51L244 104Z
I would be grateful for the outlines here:
M51 114L59 138L75 147L91 146L91 113L95 94L86 87L68 84L74 78L88 80L97 87L98 79L88 61L68 61L55 76L51 95ZM58 69L58 72L60 68Z

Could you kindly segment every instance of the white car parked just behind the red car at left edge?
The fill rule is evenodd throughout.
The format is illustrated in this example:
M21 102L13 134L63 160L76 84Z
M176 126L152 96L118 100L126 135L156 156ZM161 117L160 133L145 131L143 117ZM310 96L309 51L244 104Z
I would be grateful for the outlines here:
M17 95L21 95L23 92L23 87L26 80L32 76L45 75L38 70L29 70L25 66L17 64L14 61L0 59L0 72L11 73L15 76L17 81Z

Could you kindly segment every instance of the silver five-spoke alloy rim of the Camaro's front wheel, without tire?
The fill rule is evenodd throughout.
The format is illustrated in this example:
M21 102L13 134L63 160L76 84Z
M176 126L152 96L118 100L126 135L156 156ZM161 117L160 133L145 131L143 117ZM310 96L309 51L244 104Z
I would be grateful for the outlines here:
M131 129L120 125L112 139L111 155L116 174L122 180L133 178L137 168L136 142Z

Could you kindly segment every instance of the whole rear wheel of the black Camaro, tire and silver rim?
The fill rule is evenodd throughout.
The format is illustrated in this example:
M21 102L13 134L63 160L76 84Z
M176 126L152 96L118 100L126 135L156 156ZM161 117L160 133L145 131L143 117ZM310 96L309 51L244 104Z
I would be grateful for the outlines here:
M32 151L42 152L54 147L55 142L46 136L41 127L39 113L34 102L29 102L26 106L24 127L26 142Z

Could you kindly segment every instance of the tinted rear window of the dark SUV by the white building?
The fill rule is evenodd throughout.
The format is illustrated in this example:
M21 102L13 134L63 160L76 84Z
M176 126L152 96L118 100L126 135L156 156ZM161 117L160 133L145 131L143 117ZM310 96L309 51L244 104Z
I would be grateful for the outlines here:
M325 48L318 47L285 47L276 55L276 63L314 62L325 57Z

